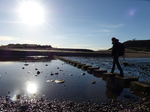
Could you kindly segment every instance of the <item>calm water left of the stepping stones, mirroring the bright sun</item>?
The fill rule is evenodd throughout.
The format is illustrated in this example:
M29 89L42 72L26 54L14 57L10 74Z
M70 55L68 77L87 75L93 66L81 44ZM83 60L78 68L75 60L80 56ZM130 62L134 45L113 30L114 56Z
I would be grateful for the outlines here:
M24 98L32 97L35 94L38 98L45 95L45 98L50 100L105 102L110 100L108 98L114 98L114 94L116 98L122 92L121 89L118 92L119 87L114 79L108 78L105 82L100 76L94 77L82 69L57 59L30 62L25 60L12 62L8 65L5 62L0 62L0 75L0 95L2 96L4 92L10 91L15 100L19 98L18 95L22 97L26 94L26 96L23 96ZM63 83L58 84L54 81L62 81ZM91 82L96 83L91 84ZM107 86L105 86L106 83ZM19 92L16 92L16 90Z

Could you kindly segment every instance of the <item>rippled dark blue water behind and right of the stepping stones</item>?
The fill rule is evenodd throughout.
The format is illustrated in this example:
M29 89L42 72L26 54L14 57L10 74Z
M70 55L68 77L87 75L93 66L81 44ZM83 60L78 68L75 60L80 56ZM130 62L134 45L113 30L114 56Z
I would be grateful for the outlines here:
M100 67L100 69L111 71L112 58L103 57L64 57L70 60L79 61L84 64ZM150 58L119 58L125 75L139 77L139 81L150 81ZM129 66L124 66L128 63ZM115 72L119 73L118 68Z

